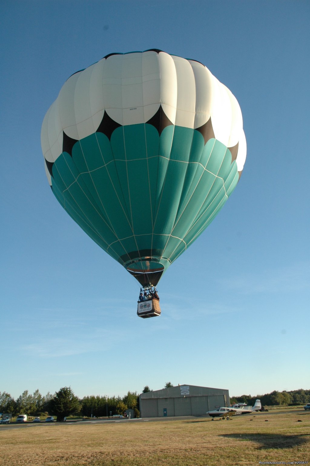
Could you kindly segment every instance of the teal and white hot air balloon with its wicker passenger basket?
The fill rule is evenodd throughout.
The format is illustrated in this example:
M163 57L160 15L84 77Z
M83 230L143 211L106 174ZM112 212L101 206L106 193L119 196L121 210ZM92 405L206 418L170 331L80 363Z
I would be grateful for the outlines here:
M106 55L71 75L41 146L56 199L151 296L224 206L246 158L230 90L202 63L157 49ZM159 315L154 301L138 315Z

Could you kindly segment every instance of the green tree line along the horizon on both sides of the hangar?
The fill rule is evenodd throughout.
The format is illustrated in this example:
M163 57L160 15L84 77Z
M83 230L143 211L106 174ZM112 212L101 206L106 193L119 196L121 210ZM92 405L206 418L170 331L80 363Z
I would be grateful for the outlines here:
M167 382L164 388L173 387L171 382ZM142 393L152 391L145 385ZM262 405L294 405L310 402L310 390L294 391L272 391L265 395L241 395L241 397L230 398L231 404L246 403L254 405L255 399L259 398ZM28 390L16 398L5 391L0 392L0 413L27 414L28 416L42 416L46 414L57 416L58 421L64 420L69 415L81 415L85 417L110 417L116 414L124 414L127 409L132 409L135 417L140 415L139 395L137 391L128 391L124 397L108 396L87 396L78 398L70 387L62 387L54 395L47 393L42 396L39 390L33 394Z

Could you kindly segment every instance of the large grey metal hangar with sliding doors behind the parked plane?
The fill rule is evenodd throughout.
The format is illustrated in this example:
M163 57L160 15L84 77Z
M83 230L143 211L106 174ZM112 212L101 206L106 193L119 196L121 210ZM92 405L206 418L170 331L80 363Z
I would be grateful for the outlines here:
M178 385L140 395L142 418L202 416L219 406L229 406L228 390L196 385Z

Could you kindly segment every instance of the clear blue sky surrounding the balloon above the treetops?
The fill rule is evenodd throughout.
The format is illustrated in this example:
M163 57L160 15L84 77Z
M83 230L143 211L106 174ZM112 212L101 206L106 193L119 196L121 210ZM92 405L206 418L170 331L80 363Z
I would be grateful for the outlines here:
M0 391L230 396L310 388L308 1L16 1L1 18ZM236 96L248 155L212 225L137 317L138 282L58 204L43 117L74 72L159 48Z

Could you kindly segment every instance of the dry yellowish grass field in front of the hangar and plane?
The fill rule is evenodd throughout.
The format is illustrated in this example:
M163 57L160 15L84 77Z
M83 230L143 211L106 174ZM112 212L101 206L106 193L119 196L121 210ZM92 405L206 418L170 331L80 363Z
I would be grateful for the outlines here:
M0 455L3 466L310 465L310 413L1 426Z

